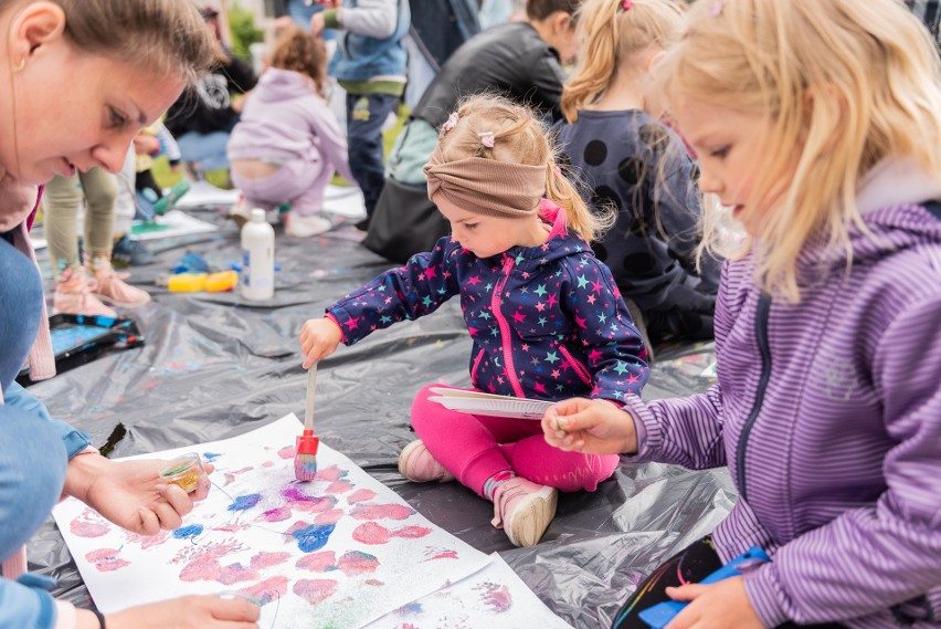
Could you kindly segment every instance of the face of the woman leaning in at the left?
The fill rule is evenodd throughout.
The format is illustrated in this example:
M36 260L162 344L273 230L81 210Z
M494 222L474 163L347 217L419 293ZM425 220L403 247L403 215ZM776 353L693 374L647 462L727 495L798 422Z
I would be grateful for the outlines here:
M96 166L117 172L137 132L184 86L181 78L77 51L64 36L32 49L10 76L13 104L4 96L0 105L0 167L22 184Z

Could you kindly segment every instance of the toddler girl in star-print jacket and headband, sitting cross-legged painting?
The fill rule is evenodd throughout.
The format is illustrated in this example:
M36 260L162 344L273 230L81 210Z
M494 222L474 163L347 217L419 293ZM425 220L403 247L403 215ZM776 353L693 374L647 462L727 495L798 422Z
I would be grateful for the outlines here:
M473 97L445 123L425 174L452 235L306 322L304 366L459 296L474 389L549 400L577 392L612 408L639 392L646 350L588 245L601 221L556 167L532 112ZM458 479L494 502L493 524L517 546L539 542L557 490L593 491L617 466L615 455L550 448L536 421L447 410L429 400L431 386L412 406L421 440L402 450L399 470L415 482Z

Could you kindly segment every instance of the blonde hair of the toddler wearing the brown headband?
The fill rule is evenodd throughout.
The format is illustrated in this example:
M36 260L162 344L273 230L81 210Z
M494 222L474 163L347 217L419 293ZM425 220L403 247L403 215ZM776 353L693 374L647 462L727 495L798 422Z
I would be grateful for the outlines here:
M549 129L528 107L491 94L470 96L457 109L461 124L446 133L441 150L446 161L479 157L546 169L547 199L565 210L567 227L588 242L600 238L616 219L611 212L592 214L575 186L562 174ZM493 148L479 134L494 134ZM532 200L532 207L539 199Z

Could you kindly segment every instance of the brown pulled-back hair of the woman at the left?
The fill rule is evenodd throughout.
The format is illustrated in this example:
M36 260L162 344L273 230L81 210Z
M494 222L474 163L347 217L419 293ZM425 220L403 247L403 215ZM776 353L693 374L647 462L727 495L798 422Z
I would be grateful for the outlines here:
M188 82L221 59L191 0L50 0L65 13L65 36L78 50ZM28 2L0 0L0 12Z

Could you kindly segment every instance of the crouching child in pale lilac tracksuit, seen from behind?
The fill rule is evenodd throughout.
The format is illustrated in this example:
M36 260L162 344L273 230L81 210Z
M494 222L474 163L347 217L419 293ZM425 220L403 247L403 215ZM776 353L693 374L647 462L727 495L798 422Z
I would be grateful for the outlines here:
M324 101L326 65L324 42L304 29L289 27L278 39L229 140L232 182L244 195L233 210L240 224L253 207L288 203L288 235L310 238L332 226L320 216L324 190L335 171L355 179L346 139Z

